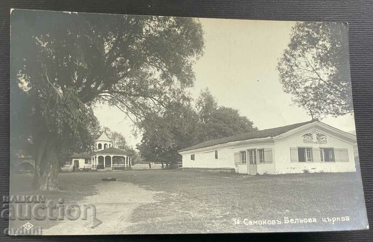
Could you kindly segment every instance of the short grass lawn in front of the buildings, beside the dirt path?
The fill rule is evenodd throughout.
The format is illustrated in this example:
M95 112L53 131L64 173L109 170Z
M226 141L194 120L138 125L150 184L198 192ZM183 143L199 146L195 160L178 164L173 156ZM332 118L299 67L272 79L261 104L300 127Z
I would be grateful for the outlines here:
M43 195L46 200L79 202L99 193L94 185L104 177L120 179L152 190L156 202L132 211L131 225L123 233L222 233L274 230L357 229L365 208L357 173L312 173L267 176L205 173L181 170L132 170L61 173L61 191ZM12 175L11 195L37 195L30 175ZM125 192L125 191L118 191ZM324 223L323 217L350 221ZM247 220L316 218L317 223L247 226ZM115 218L114 218L115 219ZM118 218L119 219L119 218ZM235 224L234 220L241 221ZM58 221L38 221L43 227ZM24 223L24 222L23 222ZM21 224L22 225L22 224Z

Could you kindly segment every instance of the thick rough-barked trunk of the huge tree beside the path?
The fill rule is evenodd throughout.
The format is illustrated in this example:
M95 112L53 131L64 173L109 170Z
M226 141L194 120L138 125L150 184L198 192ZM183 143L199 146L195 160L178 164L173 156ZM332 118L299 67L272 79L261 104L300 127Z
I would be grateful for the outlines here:
M58 137L52 132L41 133L35 139L34 187L41 191L59 190L58 170L59 147Z

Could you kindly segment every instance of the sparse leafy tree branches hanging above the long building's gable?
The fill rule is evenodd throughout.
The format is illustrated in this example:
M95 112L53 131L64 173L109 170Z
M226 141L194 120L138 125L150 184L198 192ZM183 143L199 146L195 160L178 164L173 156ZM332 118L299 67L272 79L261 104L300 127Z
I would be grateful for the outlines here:
M313 118L353 112L347 24L297 22L277 69L283 90Z

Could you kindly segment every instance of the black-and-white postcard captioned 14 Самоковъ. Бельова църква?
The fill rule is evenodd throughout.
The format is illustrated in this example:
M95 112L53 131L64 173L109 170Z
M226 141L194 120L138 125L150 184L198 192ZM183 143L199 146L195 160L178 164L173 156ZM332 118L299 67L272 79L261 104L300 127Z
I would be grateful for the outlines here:
M9 235L369 228L347 23L12 9L10 27Z

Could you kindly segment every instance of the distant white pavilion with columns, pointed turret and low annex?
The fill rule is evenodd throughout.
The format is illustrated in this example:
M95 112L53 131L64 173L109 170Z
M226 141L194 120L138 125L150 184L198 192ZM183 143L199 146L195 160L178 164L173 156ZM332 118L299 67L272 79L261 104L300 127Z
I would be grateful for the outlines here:
M113 141L106 133L95 140L93 153L79 153L69 156L70 171L81 168L91 170L131 170L134 154L113 147Z

